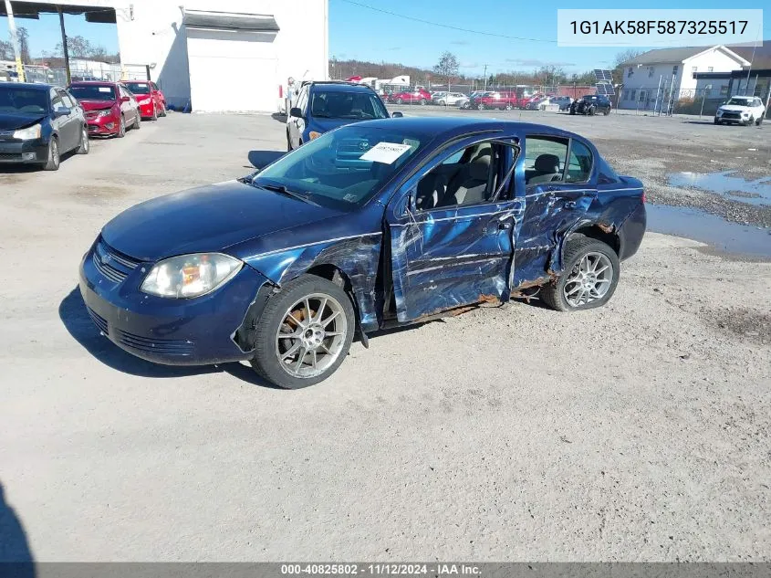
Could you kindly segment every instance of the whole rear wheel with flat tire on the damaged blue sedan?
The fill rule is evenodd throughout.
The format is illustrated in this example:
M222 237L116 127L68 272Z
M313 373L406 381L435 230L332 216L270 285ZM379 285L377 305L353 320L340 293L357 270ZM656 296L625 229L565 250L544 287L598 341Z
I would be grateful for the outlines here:
M541 299L557 311L601 307L619 284L620 262L616 251L585 236L568 240L562 275L541 289Z

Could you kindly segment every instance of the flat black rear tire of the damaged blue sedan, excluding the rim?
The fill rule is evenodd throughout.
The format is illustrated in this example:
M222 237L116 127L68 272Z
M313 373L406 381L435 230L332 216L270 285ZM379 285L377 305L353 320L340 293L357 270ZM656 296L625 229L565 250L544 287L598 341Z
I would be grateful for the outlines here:
M613 268L613 277L610 281L610 288L608 291L598 300L590 301L582 305L574 306L568 303L565 298L565 285L568 283L569 274L578 267L585 256L589 253L601 253L602 255L610 259L610 264ZM613 296L616 290L616 286L619 284L620 277L620 262L619 256L616 255L616 251L612 247L609 247L602 241L598 241L587 236L574 236L568 239L568 245L565 247L565 256L563 258L565 268L563 268L562 275L560 275L555 281L552 281L548 285L545 285L540 292L540 298L550 308L557 311L579 311L594 309L601 307L607 303Z

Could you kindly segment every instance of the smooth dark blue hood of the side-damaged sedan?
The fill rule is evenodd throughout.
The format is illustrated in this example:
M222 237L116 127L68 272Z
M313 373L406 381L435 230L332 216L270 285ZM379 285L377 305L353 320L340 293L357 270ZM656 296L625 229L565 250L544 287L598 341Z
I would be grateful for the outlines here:
M250 184L228 181L134 205L109 221L102 238L143 261L223 251L257 236L307 225L338 211Z

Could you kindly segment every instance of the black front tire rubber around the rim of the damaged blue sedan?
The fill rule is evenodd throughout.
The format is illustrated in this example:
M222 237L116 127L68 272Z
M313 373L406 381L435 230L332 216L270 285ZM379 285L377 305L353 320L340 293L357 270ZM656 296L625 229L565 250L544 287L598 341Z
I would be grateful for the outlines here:
M276 355L276 334L284 322L286 311L298 300L314 293L328 295L337 300L346 316L346 336L338 358L323 372L314 377L297 377L282 367ZM300 389L318 384L335 373L343 363L353 341L356 317L348 294L339 285L316 275L302 275L289 282L280 293L267 301L255 328L255 357L252 367L267 381L284 389Z

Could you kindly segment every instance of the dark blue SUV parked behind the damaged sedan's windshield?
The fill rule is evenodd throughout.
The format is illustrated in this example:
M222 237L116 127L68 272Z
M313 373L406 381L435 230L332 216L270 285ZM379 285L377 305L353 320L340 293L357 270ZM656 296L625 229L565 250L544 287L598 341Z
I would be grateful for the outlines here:
M393 116L401 117L401 112ZM383 101L370 87L350 82L308 82L287 118L287 151L344 124L389 118Z

